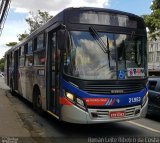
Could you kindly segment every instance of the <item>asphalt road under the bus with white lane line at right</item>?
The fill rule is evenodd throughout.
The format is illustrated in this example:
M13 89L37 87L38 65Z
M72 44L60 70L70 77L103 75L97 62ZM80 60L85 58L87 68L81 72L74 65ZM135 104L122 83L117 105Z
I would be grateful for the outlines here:
M1 79L0 87L0 91L7 89ZM16 112L17 121L22 122L22 127L30 133L28 137L34 142L160 142L158 116L96 125L61 123L48 114L38 115L24 99L6 93L11 108ZM23 137L24 134L19 136ZM23 140L27 141L28 138Z

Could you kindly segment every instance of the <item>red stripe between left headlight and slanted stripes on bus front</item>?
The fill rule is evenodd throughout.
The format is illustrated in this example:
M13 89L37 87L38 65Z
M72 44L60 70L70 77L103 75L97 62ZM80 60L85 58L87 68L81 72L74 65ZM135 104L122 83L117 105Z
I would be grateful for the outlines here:
M103 106L109 98L84 98L88 106Z

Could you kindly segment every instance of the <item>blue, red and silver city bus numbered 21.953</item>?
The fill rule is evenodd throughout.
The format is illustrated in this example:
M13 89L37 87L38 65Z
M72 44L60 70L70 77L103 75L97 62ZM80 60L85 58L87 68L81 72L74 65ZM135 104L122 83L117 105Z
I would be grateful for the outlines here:
M104 8L67 8L5 53L11 91L60 121L106 123L145 117L146 27Z

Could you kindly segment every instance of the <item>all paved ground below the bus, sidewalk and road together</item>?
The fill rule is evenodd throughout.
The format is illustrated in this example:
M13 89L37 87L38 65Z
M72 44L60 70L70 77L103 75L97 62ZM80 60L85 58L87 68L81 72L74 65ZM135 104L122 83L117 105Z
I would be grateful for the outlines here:
M18 138L18 142L29 143L110 143L117 142L116 139L128 143L129 139L134 142L134 137L141 143L160 142L159 117L99 125L62 124L50 115L35 113L31 104L19 96L12 96L3 84L0 80L0 137L26 137Z

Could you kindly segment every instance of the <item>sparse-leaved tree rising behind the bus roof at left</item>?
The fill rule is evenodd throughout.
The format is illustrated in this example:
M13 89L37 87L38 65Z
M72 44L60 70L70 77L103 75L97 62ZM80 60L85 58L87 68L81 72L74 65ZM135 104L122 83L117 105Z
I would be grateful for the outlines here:
M37 14L30 12L31 17L26 18L26 22L29 24L29 31L32 33L40 26L44 25L48 20L52 18L46 11L38 10Z

